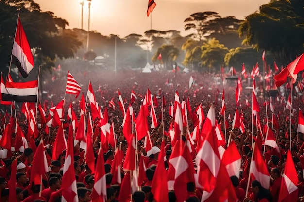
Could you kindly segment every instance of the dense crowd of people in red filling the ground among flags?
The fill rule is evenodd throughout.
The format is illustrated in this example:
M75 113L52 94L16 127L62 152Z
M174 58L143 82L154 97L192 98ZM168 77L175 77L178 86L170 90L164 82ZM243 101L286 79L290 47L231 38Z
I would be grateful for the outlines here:
M75 98L75 95L65 94L66 86L66 71L61 70L62 72L57 73L56 79L51 79L44 76L44 80L40 81L40 94L39 99L41 105L47 108L46 117L49 114L49 110L52 106L57 105L62 99L65 99L64 111L65 115L63 117L63 123L67 123L67 111L70 103L73 103L73 108L76 115L79 117L80 114L80 97ZM96 102L101 106L101 111L103 113L104 109L107 108L109 123L113 121L114 132L116 137L117 146L121 146L121 151L123 156L126 155L128 147L130 147L130 142L125 138L123 134L123 113L119 108L118 104L118 89L123 98L125 108L129 106L130 103L130 94L133 90L136 93L137 99L132 103L134 110L135 118L137 117L147 89L152 93L154 99L154 107L156 112L156 117L158 121L158 126L154 129L150 128L152 119L148 119L148 127L150 130L150 138L152 142L152 153L147 154L146 148L144 147L144 139L137 141L137 166L139 167L140 159L143 159L144 165L146 167L144 178L138 178L142 180L138 184L138 190L132 190L132 195L127 201L133 200L134 202L153 202L155 201L152 193L152 180L155 177L155 169L157 168L158 156L161 152L161 142L165 141L165 154L167 161L165 162L166 170L169 170L172 166L169 162L170 155L172 153L173 147L171 145L172 140L169 135L170 124L174 122L174 119L169 114L170 103L174 104L175 93L179 93L180 101L189 99L191 110L196 114L195 109L202 104L204 117L207 116L207 112L211 106L214 106L216 114L220 112L222 107L222 92L225 91L225 103L226 110L224 115L217 115L216 119L219 124L221 124L221 130L224 134L226 145L224 148L227 148L227 143L229 136L231 140L236 143L236 146L239 150L239 154L242 157L241 167L239 168L240 176L231 176L231 182L234 186L235 194L239 201L248 202L278 202L279 200L279 191L282 186L282 174L284 173L284 167L287 158L287 152L291 148L291 153L293 156L294 166L298 173L298 192L297 198L299 201L304 201L304 179L303 179L303 169L304 169L304 155L303 155L303 134L297 132L297 122L298 122L298 109L303 109L303 94L302 92L293 93L292 96L292 118L290 120L290 111L285 109L286 102L288 100L288 95L290 93L290 87L287 85L283 91L277 92L272 97L272 105L274 107L275 117L277 118L279 127L276 127L271 123L272 112L268 109L266 112L266 106L269 108L269 97L264 96L266 92L260 92L257 94L257 100L260 105L260 122L262 128L264 125L269 125L274 132L276 138L276 143L280 149L280 152L275 153L273 148L269 146L265 147L264 159L268 165L269 175L270 175L270 188L266 189L261 186L261 182L257 180L251 180L251 184L248 187L249 180L249 167L251 163L252 156L252 141L251 135L253 136L265 136L262 134L262 131L258 131L255 126L253 126L252 131L252 89L246 87L252 87L252 83L249 83L249 79L242 80L242 91L240 95L240 102L236 105L235 100L235 91L237 80L228 80L225 78L229 75L216 75L203 72L152 72L152 73L141 73L132 70L121 71L121 72L106 72L106 71L87 71L74 72L70 69L71 74L76 79L76 81L81 85L84 95L86 95L89 81L91 82ZM192 77L193 82L189 85L189 78ZM225 85L223 85L222 80L216 79L222 78ZM263 81L257 78L256 87L262 91ZM284 95L284 96L283 96ZM163 99L164 97L164 99ZM165 102L163 101L165 100ZM115 107L110 105L110 101L113 101ZM267 105L265 104L268 103ZM264 103L264 104L263 104ZM26 135L28 133L28 124L27 118L24 114L21 113L21 104L16 104L17 107L17 121ZM164 108L164 109L163 109ZM236 108L241 113L241 119L245 124L246 131L241 133L239 128L232 128L233 116L235 114ZM2 108L4 109L4 108ZM5 113L9 113L11 107L7 107L2 110L1 113L1 134L5 126L11 121L10 118L6 118ZM188 109L189 110L189 109ZM86 114L90 112L90 107L87 107ZM162 117L162 113L164 114ZM14 116L14 113L12 113ZM11 151L11 155L7 155L7 158L1 159L1 168L0 168L0 202L6 202L9 199L9 192L15 192L17 195L17 202L61 202L61 183L63 175L63 165L65 163L65 152L58 159L52 159L52 148L56 134L58 132L58 127L51 127L49 133L45 132L46 125L40 123L40 115L37 115L37 126L39 135L35 140L35 146L38 146L40 140L42 139L46 150L45 153L48 159L49 172L45 173L42 176L40 185L29 185L29 179L31 178L32 171L32 162L34 159L35 148L26 148L23 152L21 151ZM98 120L93 120L93 124ZM224 123L226 121L226 123ZM290 122L291 122L291 134L290 134ZM187 141L187 130L191 134L194 130L194 120L190 117L188 113L188 125L184 126L182 131L183 141ZM226 130L225 127L226 126ZM14 127L15 128L15 127ZM164 129L163 129L164 128ZM94 128L95 129L95 128ZM258 132L257 132L258 131ZM99 148L101 145L100 142L100 131L93 131L93 147L95 156L97 156ZM15 138L15 133L12 133L13 139ZM68 137L68 127L65 130L65 137ZM29 137L26 137L29 140ZM194 140L193 151L191 152L194 168L197 168L198 165L195 164L197 139ZM263 153L263 150L261 150ZM106 202L117 202L117 201L126 201L126 199L119 198L119 193L121 193L121 183L118 183L113 179L113 159L116 154L115 148L110 145L106 150L103 150L104 157L104 167L105 167L105 178L106 178ZM17 173L16 173L16 190L8 189L7 183L10 183L12 178L11 176L11 165L12 161L17 159ZM87 164L85 164L85 151L80 148L79 143L75 144L74 147L74 170L75 178L77 181L77 194L79 202L90 202L91 201L91 192L94 188L94 173ZM96 161L95 161L96 164ZM123 169L124 157L122 158L122 167L121 167L121 178L124 179L125 171ZM203 176L200 176L203 177ZM13 178L15 179L15 178ZM161 186L161 185L159 185ZM247 189L247 191L246 191ZM197 186L197 182L187 183L185 193L187 193L187 202L199 202L202 199L204 188ZM246 193L247 192L247 193ZM181 199L176 197L177 194L174 190L168 190L168 200L169 202L180 202ZM158 201L160 202L160 201Z

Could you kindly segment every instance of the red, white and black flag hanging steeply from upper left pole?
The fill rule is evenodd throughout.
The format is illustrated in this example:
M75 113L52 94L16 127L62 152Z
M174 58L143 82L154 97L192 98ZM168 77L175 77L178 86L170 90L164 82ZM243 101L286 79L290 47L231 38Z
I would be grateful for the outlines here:
M34 68L32 51L19 17L12 51L12 63L18 67L23 78L27 78L29 72Z

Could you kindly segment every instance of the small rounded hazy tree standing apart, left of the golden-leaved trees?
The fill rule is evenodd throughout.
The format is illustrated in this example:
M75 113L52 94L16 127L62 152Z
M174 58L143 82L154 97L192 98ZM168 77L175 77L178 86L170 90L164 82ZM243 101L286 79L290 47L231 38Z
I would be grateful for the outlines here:
M159 54L162 56L165 69L172 69L173 62L179 54L179 49L173 45L162 45L157 49L156 53L152 57L153 62L157 60Z

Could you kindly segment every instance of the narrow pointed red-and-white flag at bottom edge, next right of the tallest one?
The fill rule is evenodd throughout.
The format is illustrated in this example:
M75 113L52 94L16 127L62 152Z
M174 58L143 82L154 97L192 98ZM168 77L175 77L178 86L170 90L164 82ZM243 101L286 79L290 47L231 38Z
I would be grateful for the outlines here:
M106 202L107 188L105 181L104 159L102 147L99 149L97 156L96 172L94 175L94 186L92 191L92 202Z

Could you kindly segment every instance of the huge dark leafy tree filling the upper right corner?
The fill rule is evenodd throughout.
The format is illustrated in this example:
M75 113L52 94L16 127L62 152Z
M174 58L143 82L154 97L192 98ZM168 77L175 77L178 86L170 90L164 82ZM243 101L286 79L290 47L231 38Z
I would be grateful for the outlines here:
M304 1L272 0L245 18L239 28L244 44L270 51L287 65L304 52Z

